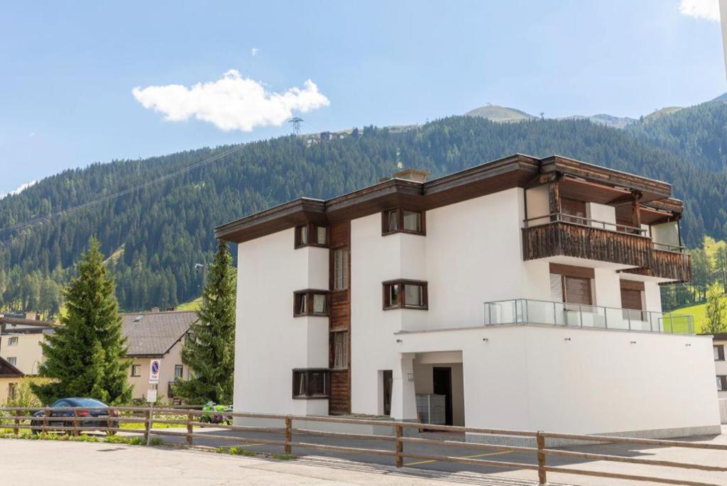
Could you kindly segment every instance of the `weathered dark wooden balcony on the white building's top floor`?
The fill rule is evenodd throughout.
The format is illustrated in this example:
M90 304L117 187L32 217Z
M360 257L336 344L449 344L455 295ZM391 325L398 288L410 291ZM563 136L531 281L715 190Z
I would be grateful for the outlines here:
M691 260L684 248L653 243L646 230L612 222L549 214L526 219L523 259L553 256L620 264L625 272L668 280L691 280Z

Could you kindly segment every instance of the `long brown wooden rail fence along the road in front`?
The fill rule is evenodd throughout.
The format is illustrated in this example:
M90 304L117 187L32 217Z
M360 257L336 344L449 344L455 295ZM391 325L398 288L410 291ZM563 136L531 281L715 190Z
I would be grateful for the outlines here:
M44 411L41 417L32 417L31 414L37 411ZM71 410L73 416L50 416L50 411ZM646 458L635 458L621 455L607 455L599 453L585 453L575 450L555 449L546 447L547 439L572 440L578 442L595 443L624 443L633 445L651 445L654 447L684 447L700 450L723 450L727 451L727 445L704 444L699 442L682 442L677 440L656 440L638 439L633 437L611 437L579 434L558 434L555 432L527 432L504 429L480 429L476 427L445 426L434 424L417 424L412 422L379 421L366 418L337 418L318 416L289 416L268 413L223 413L225 416L240 418L266 419L281 421L280 427L270 426L238 426L227 424L209 424L201 421L201 416L216 414L215 412L203 410L191 410L188 408L155 408L154 414L166 416L158 418L150 413L149 408L143 407L111 407L103 408L108 413L103 418L84 416L84 411L99 410L94 408L0 408L0 429L12 429L15 434L20 429L30 429L37 432L63 431L69 434L79 435L81 432L101 431L108 433L128 432L142 435L148 440L150 435L161 435L167 437L184 438L188 445L194 445L195 439L206 439L218 442L241 442L256 445L273 445L282 448L286 454L291 454L293 447L302 449L314 449L337 453L352 454L373 454L385 455L393 458L395 466L404 466L404 458L418 459L421 461L442 461L450 463L461 463L474 466L483 466L502 469L527 469L537 471L539 483L545 485L547 473L576 474L582 476L604 477L612 479L628 479L632 481L651 481L669 485L689 486L720 486L715 483L698 482L690 479L675 479L666 477L639 476L634 474L621 474L611 471L589 471L587 469L574 469L563 466L548 466L547 457L570 458L582 461L612 461L618 463L640 464L646 466L672 467L678 469L692 469L701 471L727 472L726 466L712 466L706 464L684 463L676 461L661 461ZM9 414L9 415L7 415ZM169 418L169 416L183 416L184 418ZM84 426L84 422L96 422L95 426ZM364 426L376 426L393 428L393 435L383 434L352 434L345 432L324 432L313 429L299 429L294 422L326 422L329 424L355 424ZM142 429L122 429L124 423L144 423ZM98 425L102 423L103 426ZM184 432L169 429L153 429L153 424L174 424L185 427ZM195 427L225 429L233 432L264 432L268 434L279 434L279 439L244 437L244 435L220 435L209 432L195 432ZM426 429L427 431L446 431L473 434L486 434L489 436L506 437L529 437L534 441L535 447L514 447L509 445L483 444L478 442L460 442L457 440L446 440L429 437L407 437L406 429ZM345 445L326 445L316 442L300 442L294 440L294 436L307 435L316 437L333 437L341 440L371 440L374 442L393 442L393 449L369 448L369 447L347 447ZM442 453L414 453L407 451L405 445L430 445L436 447ZM515 453L532 454L532 463L519 463L507 461L492 461L490 459L464 458L454 455L447 455L449 448L470 449L470 450L496 450Z

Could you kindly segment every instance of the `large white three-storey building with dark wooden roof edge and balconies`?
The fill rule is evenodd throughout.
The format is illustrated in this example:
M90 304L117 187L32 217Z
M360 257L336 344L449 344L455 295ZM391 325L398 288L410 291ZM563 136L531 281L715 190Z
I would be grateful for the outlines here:
M559 156L394 175L217 227L235 410L720 432L712 341L662 314L691 278L669 184Z

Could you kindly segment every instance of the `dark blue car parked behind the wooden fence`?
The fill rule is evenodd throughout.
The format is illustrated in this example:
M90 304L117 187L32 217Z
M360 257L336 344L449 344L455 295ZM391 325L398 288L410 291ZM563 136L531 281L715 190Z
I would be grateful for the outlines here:
M73 413L77 410L79 417L97 417L98 420L79 421L79 427L98 427L99 430L105 430L108 427L108 405L100 402L95 398L61 398L56 400L49 407L50 414L48 417L48 429L52 430L53 426L72 427ZM63 409L63 410L61 410ZM71 410L73 409L73 410ZM112 416L118 416L119 412L113 410ZM38 410L33 413L32 426L43 426L45 418L45 410ZM119 427L119 421L112 420L113 428ZM33 434L41 432L39 429L33 429ZM116 432L112 431L111 434Z

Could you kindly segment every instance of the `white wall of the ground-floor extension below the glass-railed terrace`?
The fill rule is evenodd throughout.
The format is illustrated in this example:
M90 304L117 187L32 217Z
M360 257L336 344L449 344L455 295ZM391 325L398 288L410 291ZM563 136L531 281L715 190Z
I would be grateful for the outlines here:
M598 434L719 424L702 336L515 325L396 339L400 352L462 351L467 426Z

